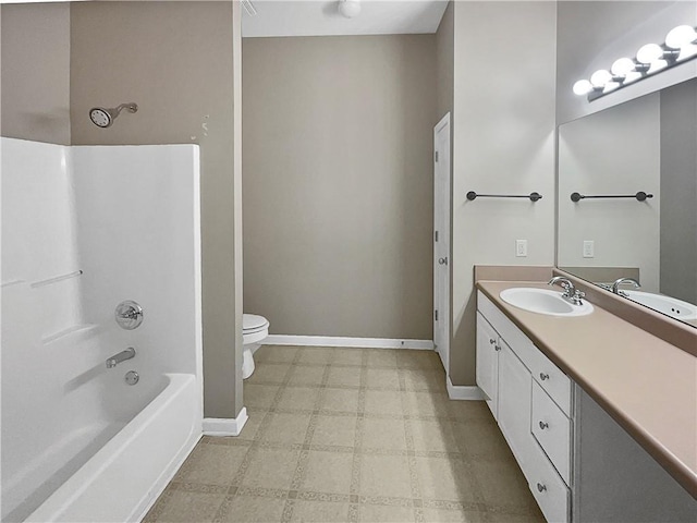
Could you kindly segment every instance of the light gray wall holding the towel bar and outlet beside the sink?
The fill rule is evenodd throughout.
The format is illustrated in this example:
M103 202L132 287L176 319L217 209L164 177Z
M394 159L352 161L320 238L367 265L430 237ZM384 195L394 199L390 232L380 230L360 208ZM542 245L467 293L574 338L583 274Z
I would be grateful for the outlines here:
M555 17L554 2L454 2L453 385L475 385L474 265L554 259Z

